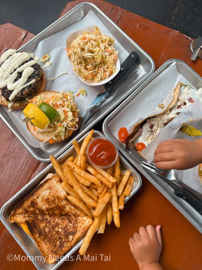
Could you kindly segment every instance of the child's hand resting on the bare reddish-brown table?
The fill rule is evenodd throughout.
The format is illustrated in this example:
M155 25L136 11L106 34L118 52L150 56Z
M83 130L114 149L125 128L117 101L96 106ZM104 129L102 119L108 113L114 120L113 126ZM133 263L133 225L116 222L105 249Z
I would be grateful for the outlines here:
M129 245L140 269L162 269L158 263L162 249L160 225L140 227L129 239Z

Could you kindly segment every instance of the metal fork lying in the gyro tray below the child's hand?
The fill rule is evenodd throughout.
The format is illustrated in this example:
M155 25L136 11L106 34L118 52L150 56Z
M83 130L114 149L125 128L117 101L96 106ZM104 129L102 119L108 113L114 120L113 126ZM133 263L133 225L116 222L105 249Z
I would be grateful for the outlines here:
M142 160L141 164L142 167L147 168L148 170L154 172L155 174L158 174L162 178L165 178L166 180L173 181L175 184L180 185L187 190L189 190L191 193L193 193L195 196L198 197L202 201L202 194L198 193L197 191L193 190L183 182L181 182L179 179L175 177L174 170L163 170L156 168L156 164L154 162L148 163L146 160ZM172 179L171 179L172 178Z

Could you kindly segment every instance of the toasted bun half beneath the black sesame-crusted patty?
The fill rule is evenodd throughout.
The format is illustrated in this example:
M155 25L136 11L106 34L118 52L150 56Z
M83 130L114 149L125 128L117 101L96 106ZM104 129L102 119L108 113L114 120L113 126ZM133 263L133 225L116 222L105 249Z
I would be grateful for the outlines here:
M45 75L42 72L41 78L40 78L39 83L38 83L37 88L36 88L36 92L33 93L30 98L32 98L33 96L35 96L36 94L38 94L40 92L44 92L45 87L46 87L46 80L45 80ZM0 105L5 106L5 107L8 107L8 104L9 103L10 102L8 102L1 95L1 91L0 91ZM29 102L26 99L14 101L13 106L12 106L12 109L24 109L27 106L28 103Z

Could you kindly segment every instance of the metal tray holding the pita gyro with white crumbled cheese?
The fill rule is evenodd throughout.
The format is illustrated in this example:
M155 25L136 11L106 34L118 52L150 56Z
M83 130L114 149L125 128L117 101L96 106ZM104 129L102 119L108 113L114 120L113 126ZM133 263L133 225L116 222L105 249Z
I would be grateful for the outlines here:
M119 151L123 154L135 168L137 168L169 201L172 203L183 215L186 217L198 231L202 233L202 216L194 210L189 204L187 204L183 199L174 195L172 188L170 188L166 183L164 183L161 178L155 173L142 169L140 166L143 158L132 148L126 150L125 145L120 143L120 141L114 136L114 134L109 130L108 125L113 121L124 107L140 93L144 87L152 82L159 74L161 74L166 68L168 68L173 62L176 62L176 67L179 73L190 81L197 89L201 87L202 78L188 65L179 59L170 59L166 61L158 70L156 70L140 87L138 87L127 99L124 100L112 113L106 117L103 122L103 133L105 136L110 137L117 144Z

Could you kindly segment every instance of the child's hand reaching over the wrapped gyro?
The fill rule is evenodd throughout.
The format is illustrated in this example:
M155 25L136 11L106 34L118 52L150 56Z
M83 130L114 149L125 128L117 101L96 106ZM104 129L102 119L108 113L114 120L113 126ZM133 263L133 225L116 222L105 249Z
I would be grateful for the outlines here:
M156 167L186 170L202 163L202 139L195 141L174 139L163 141L154 152Z

